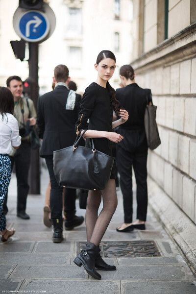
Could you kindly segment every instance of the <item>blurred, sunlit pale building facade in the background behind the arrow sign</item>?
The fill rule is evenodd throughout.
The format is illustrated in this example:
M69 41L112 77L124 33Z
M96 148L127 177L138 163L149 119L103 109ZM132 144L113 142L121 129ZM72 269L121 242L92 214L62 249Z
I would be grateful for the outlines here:
M56 27L39 45L40 94L51 90L53 69L66 64L78 89L97 77L94 64L98 53L115 53L117 69L111 84L119 87L119 67L132 59L132 0L44 0L56 16ZM16 60L11 40L20 40L12 19L19 0L0 0L0 85L9 75L28 76L27 61ZM26 58L28 60L28 56Z

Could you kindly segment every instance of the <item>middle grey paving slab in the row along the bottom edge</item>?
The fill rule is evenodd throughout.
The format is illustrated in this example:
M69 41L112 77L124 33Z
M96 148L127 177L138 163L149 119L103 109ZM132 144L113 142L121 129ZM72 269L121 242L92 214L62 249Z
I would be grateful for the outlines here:
M46 294L120 294L120 282L27 280L20 290L46 291Z

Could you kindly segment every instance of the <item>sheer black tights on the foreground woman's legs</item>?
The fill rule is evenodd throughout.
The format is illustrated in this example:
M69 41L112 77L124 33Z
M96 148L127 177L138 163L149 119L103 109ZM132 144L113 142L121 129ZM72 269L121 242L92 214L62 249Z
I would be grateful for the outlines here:
M103 197L103 208L98 208ZM99 245L117 207L116 184L110 179L102 191L89 191L86 208L87 242Z

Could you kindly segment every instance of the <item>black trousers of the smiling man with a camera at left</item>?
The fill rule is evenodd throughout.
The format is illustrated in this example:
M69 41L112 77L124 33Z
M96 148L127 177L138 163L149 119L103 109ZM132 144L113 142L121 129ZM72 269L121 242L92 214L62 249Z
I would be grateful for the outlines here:
M26 199L29 191L28 171L30 167L31 148L27 141L22 141L19 149L16 150L14 156L10 156L11 169L15 163L17 178L17 212L25 212ZM7 213L7 195L4 199L3 210Z

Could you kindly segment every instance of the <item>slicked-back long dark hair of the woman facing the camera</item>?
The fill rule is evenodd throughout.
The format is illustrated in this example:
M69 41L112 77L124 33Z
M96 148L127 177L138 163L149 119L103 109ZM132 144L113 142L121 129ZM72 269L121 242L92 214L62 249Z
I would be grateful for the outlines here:
M109 50L102 50L98 54L96 63L99 64L99 62L105 58L111 58L112 60L114 60L116 62L116 57L115 57L114 53L112 53ZM116 91L110 86L108 81L106 83L106 88L109 91L113 109L118 114L119 113L119 101L116 99Z

